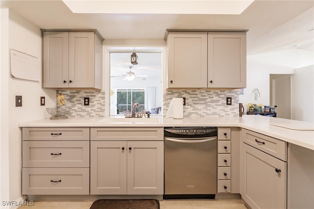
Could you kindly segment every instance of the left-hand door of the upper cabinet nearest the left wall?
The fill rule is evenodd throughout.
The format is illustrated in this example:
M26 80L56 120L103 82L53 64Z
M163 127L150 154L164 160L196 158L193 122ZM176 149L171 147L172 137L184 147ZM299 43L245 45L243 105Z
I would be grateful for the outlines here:
M68 87L69 33L45 31L43 34L43 87ZM65 82L63 82L65 81Z

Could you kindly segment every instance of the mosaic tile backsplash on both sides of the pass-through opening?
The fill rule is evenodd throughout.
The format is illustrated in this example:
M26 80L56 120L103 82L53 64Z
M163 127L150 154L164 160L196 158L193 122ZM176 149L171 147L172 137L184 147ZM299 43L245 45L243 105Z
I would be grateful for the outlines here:
M71 107L69 116L105 116L105 92L101 90L60 90ZM58 93L59 91L56 91ZM89 106L84 105L89 97ZM238 116L237 90L166 90L163 93L163 116L172 98L185 97L183 116ZM226 105L226 97L232 97L232 105Z

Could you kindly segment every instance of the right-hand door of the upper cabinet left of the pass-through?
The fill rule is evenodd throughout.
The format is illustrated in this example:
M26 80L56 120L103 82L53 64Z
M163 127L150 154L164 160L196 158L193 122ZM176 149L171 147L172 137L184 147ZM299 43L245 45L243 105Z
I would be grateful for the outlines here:
M94 86L94 32L69 32L69 88Z

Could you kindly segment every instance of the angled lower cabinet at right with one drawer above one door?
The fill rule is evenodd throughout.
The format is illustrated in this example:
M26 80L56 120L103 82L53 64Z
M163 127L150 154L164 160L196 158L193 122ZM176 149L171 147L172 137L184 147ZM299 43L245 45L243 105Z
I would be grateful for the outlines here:
M242 129L240 182L250 208L287 208L287 142Z

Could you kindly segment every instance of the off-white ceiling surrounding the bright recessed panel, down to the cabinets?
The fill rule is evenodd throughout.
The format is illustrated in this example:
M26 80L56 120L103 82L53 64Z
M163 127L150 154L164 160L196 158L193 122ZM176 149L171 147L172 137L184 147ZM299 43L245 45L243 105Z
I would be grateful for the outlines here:
M78 14L61 0L0 5L40 28L97 29L105 39L163 39L166 29L248 29L248 55L291 47L313 51L313 0L255 0L240 15Z

